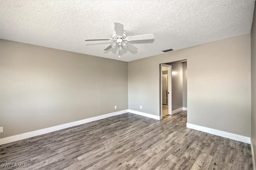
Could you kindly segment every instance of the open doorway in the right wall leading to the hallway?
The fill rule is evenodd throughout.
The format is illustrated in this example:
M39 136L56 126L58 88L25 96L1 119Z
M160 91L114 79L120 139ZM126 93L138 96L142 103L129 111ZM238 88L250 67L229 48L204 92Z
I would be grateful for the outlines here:
M160 64L160 116L187 110L187 61Z

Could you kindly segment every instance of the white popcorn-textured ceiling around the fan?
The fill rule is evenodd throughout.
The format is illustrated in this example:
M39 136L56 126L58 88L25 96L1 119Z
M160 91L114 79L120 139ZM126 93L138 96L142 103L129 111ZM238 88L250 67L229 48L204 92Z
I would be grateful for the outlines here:
M0 0L0 38L133 61L250 33L255 0L68 1ZM154 40L131 41L136 52L103 51L114 21L128 36L153 33ZM172 52L169 52L170 55Z

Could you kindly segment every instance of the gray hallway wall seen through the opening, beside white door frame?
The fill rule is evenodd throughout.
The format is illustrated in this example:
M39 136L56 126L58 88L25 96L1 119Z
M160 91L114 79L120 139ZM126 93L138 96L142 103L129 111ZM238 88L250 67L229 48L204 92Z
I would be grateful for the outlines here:
M172 66L172 110L176 110L182 107L182 63L178 61L168 65Z

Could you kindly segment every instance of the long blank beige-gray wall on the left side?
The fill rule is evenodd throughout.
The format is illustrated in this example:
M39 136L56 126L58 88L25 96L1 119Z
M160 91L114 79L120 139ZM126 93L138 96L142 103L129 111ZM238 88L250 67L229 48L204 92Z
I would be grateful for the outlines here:
M1 138L128 109L127 62L6 40L0 48Z

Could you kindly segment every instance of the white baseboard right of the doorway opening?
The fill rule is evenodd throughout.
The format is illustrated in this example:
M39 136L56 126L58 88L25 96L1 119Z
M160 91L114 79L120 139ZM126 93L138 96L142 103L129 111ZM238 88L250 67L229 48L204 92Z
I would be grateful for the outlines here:
M248 143L248 144L251 143L250 137L236 135L234 133L219 131L219 130L216 130L216 129L211 129L211 128L208 128L208 127L198 126L198 125L194 125L194 124L190 124L190 123L187 123L187 127L190 128L190 129L195 129L195 130L210 133L210 134L213 134L213 135L226 137L226 138L229 138L229 139L234 139L236 141L240 141L240 142L244 142L244 143Z

